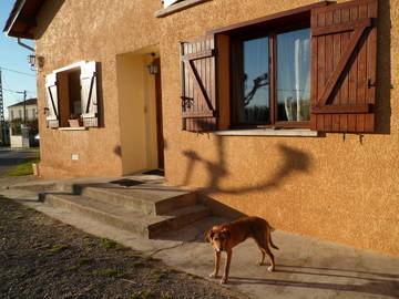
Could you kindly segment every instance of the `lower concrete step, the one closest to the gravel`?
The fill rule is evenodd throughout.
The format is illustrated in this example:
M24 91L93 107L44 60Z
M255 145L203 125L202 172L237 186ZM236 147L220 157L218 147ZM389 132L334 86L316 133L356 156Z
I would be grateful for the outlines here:
M48 193L42 195L42 200L146 238L155 238L209 215L207 207L194 205L176 209L168 215L155 216L84 195L62 193Z

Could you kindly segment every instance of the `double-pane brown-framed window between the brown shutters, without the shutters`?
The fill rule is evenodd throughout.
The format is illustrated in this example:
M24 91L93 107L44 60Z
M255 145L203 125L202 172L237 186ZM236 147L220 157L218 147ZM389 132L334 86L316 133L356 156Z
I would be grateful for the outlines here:
M232 58L233 124L296 126L310 121L309 28L233 39Z

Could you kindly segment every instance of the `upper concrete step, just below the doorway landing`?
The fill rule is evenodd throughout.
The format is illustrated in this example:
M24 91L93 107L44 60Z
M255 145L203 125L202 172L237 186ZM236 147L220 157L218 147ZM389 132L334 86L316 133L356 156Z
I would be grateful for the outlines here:
M195 193L164 186L142 185L123 188L108 185L101 187L76 185L74 192L103 203L121 205L151 215L167 215L196 203Z

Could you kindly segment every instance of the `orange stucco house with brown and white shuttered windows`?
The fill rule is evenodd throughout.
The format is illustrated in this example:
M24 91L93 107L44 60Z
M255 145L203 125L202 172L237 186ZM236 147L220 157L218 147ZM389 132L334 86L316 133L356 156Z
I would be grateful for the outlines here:
M315 1L17 0L41 176L164 168L215 213L399 255L399 2Z

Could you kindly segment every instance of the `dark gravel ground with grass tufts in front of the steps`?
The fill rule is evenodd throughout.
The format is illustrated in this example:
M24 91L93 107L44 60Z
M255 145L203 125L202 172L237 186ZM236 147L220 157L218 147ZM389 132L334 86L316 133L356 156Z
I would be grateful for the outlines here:
M0 198L0 298L248 298Z

